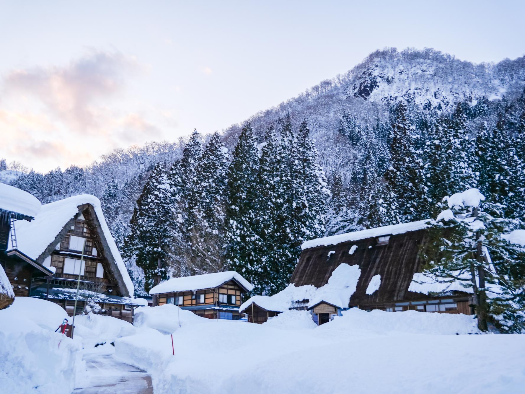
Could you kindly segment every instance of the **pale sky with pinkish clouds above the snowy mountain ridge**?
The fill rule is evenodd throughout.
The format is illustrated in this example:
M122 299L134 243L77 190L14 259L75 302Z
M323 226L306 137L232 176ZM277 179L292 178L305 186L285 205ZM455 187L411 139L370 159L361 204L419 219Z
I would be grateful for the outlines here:
M384 47L525 54L525 1L0 1L0 158L39 171L208 133Z

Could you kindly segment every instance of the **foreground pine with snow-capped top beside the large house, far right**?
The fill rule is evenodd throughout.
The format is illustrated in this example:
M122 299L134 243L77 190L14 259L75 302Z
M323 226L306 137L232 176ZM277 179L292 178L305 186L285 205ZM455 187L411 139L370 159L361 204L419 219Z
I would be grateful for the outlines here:
M505 236L521 222L503 218L504 207L487 202L478 189L445 197L439 208L422 247L425 275L439 283L459 281L472 292L481 330L490 323L503 332L521 332L525 253Z

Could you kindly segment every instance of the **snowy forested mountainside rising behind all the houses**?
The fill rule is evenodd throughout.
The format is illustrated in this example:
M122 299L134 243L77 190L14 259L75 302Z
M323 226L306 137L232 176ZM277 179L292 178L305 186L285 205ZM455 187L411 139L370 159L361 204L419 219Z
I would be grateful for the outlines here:
M525 57L388 48L223 132L46 174L3 160L0 179L42 203L98 196L136 296L225 269L274 294L303 241L436 217L468 188L525 228L524 80Z

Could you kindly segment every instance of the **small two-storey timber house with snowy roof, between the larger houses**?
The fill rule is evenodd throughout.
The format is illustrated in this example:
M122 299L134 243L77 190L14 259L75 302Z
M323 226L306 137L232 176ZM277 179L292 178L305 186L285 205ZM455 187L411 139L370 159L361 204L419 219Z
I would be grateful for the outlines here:
M253 285L235 271L171 278L154 286L150 295L159 305L174 304L209 319L238 320L241 295Z

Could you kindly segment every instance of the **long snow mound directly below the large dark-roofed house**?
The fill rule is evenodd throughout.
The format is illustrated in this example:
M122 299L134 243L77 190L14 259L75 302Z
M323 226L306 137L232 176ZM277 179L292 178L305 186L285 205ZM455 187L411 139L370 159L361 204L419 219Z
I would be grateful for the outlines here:
M352 335L392 335L431 334L455 335L475 334L477 320L474 316L447 313L417 312L385 312L375 309L371 312L359 308L343 310L342 316L335 317L330 324L319 326L326 330L344 330Z

